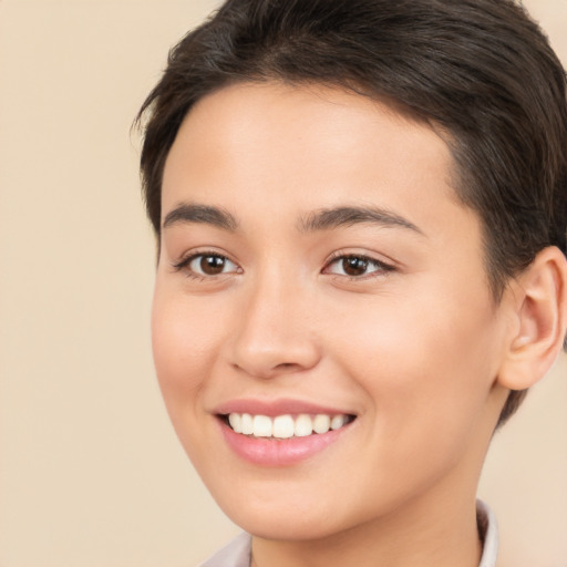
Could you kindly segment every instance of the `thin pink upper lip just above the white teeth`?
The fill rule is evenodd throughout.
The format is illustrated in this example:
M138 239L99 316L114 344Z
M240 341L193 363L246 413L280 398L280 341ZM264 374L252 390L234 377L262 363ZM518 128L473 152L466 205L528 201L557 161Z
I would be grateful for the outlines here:
M213 411L217 415L230 413L249 413L252 415L267 415L275 417L285 414L327 414L327 415L353 415L352 412L339 408L323 406L312 402L293 399L256 400L238 399L219 404Z

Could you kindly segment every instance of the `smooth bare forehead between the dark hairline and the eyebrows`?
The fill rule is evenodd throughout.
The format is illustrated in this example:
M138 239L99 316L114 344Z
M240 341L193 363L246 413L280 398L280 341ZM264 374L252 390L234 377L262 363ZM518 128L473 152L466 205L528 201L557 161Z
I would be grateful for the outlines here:
M439 217L462 208L453 166L430 125L391 105L321 85L245 83L186 116L165 165L163 212L189 199L244 216L344 200L411 213L419 199L419 216Z

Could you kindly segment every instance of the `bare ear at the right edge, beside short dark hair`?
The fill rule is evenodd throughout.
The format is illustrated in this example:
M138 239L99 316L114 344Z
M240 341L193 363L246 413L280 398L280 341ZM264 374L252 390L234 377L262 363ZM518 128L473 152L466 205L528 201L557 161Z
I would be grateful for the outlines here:
M514 320L498 383L525 390L547 373L567 330L567 260L555 246L543 249L514 279Z

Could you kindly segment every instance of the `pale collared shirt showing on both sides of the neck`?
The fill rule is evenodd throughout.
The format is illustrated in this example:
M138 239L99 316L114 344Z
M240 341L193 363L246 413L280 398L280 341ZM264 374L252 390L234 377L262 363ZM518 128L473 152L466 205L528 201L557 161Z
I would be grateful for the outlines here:
M483 539L483 556L478 567L496 567L498 554L496 518L491 508L482 501L476 501L476 517ZM250 567L251 547L251 537L248 534L240 534L198 567Z

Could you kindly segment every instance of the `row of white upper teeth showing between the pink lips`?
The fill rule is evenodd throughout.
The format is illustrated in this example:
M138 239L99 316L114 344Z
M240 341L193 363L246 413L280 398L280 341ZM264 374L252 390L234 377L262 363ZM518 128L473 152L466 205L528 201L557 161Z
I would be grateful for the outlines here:
M236 433L254 435L255 437L289 439L307 437L317 433L328 433L330 430L339 430L349 422L347 415L327 415L323 413L309 415L301 413L292 415L251 415L249 413L230 413L228 423Z

